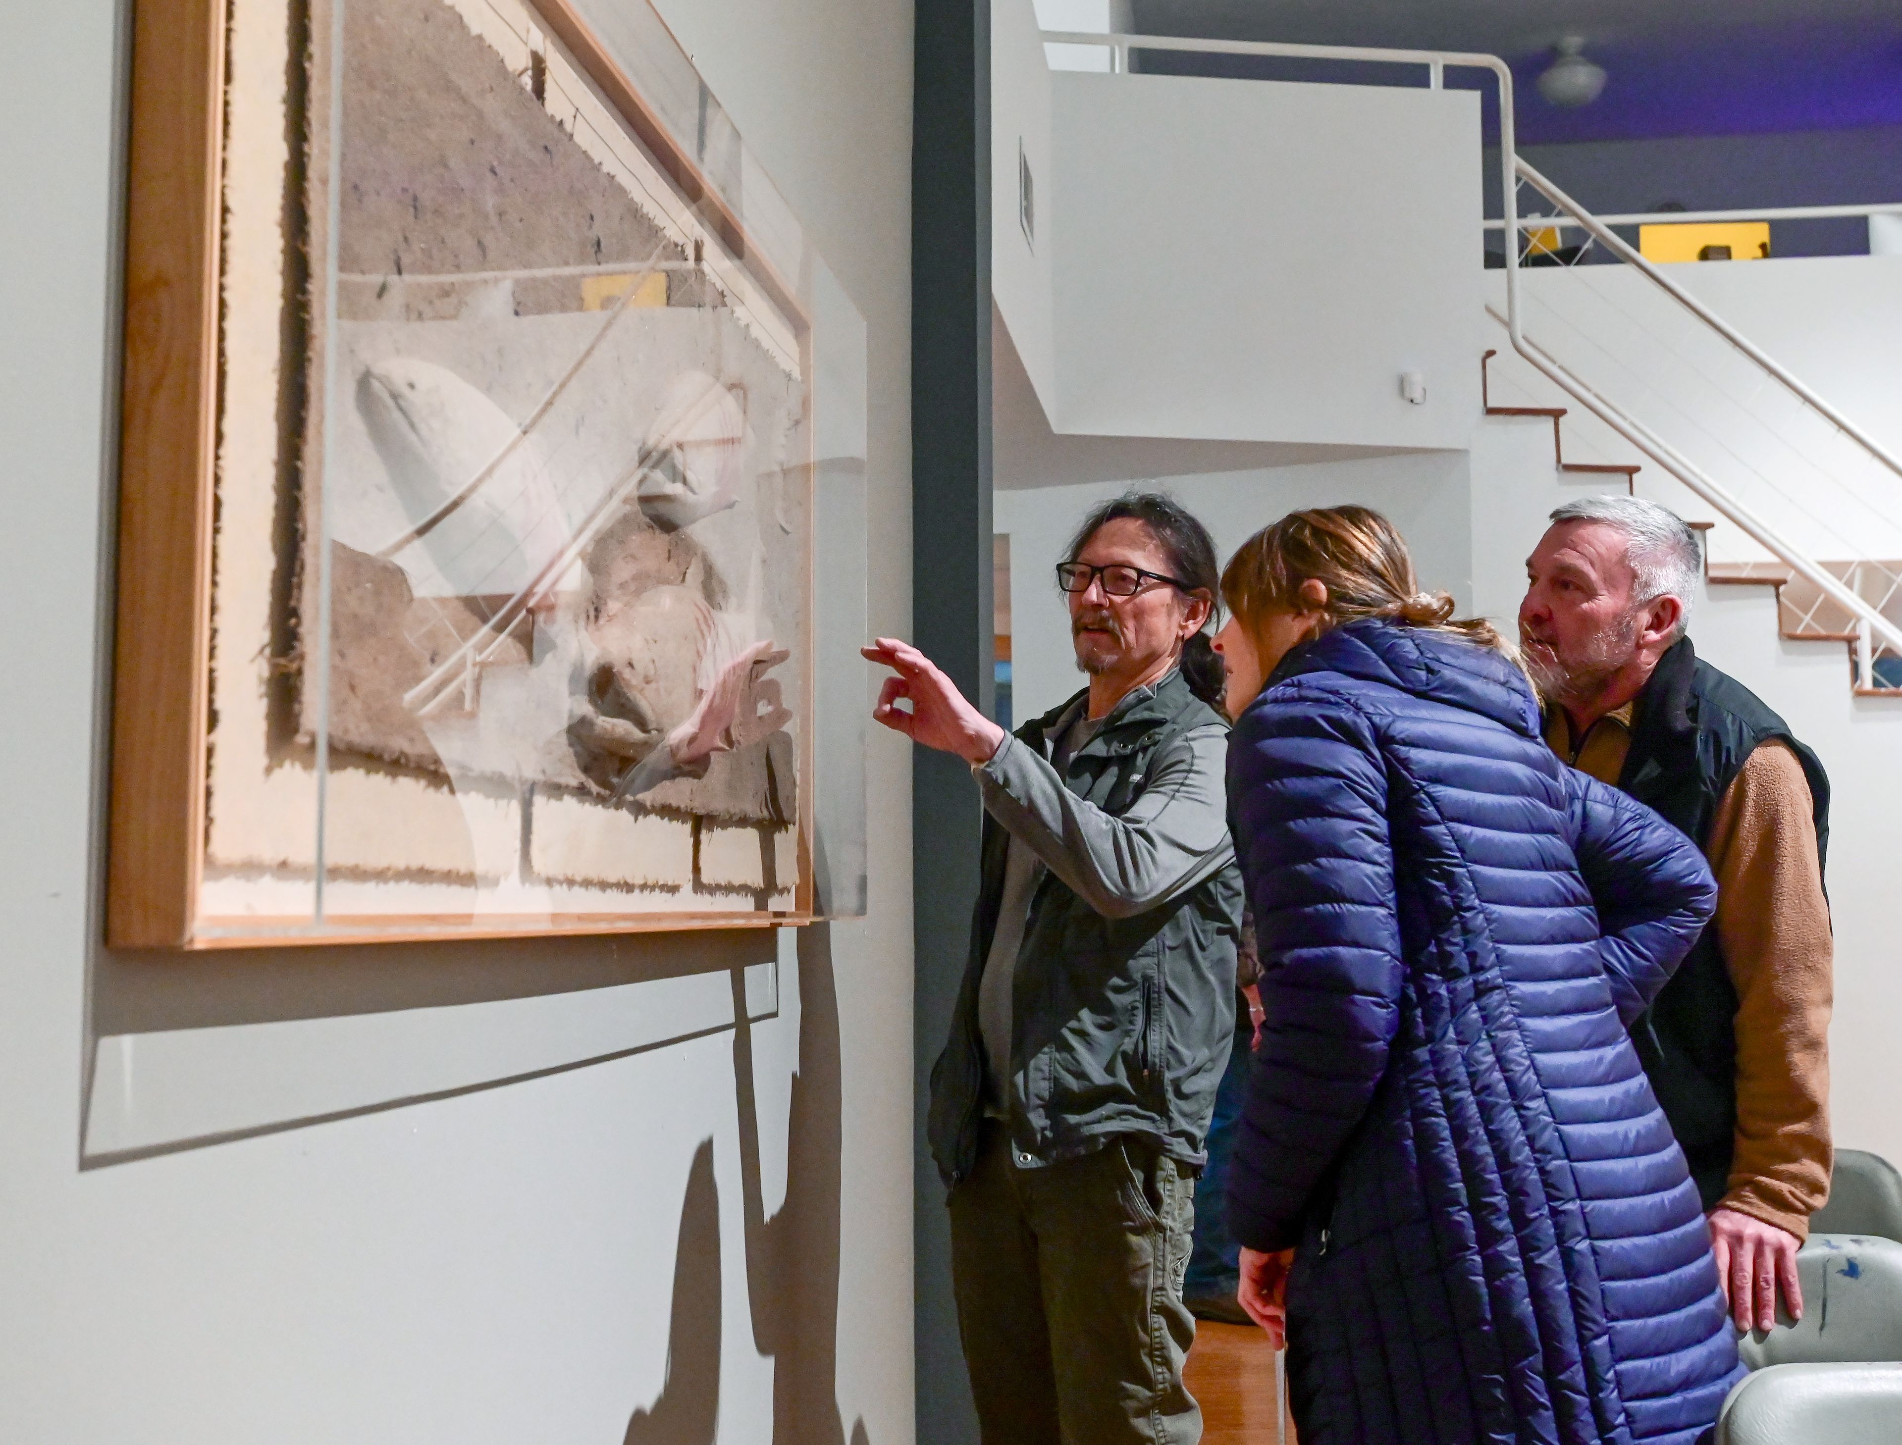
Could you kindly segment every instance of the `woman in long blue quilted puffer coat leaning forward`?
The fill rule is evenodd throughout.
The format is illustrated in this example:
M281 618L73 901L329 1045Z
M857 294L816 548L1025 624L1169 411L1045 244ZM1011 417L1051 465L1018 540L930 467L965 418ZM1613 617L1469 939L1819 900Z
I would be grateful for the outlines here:
M1546 749L1379 513L1284 517L1223 595L1267 1010L1229 1224L1301 1445L1691 1445L1737 1344L1624 1027L1704 859Z

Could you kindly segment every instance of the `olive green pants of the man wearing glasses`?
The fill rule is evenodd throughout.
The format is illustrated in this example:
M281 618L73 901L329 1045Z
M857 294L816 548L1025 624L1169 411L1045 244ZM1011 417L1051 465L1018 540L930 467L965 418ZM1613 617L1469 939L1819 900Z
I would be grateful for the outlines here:
M983 1445L1194 1445L1183 1308L1194 1179L1139 1139L1019 1167L985 1120L951 1190L951 1280Z

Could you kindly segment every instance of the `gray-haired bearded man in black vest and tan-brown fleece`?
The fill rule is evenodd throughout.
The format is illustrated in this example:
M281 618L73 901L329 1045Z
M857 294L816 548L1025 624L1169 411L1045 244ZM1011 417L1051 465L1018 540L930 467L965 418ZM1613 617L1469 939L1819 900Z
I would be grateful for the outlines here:
M1769 1329L1830 1194L1830 780L1776 713L1685 635L1697 532L1655 502L1590 496L1552 513L1525 563L1520 645L1565 762L1683 829L1718 913L1632 1025L1740 1329Z

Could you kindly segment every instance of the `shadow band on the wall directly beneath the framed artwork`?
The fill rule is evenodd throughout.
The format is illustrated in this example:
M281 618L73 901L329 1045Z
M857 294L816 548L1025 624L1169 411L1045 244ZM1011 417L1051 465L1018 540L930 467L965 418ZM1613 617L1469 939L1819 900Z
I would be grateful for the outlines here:
M89 960L80 1166L401 1108L725 1031L772 930Z

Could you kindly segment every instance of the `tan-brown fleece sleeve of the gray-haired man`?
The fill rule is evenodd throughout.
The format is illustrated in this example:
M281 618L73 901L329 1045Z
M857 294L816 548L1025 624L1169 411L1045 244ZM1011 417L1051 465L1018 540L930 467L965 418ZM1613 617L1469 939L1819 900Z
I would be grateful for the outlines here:
M1799 1240L1830 1198L1830 905L1803 764L1757 747L1710 829L1718 943L1737 987L1737 1152L1723 1207Z

